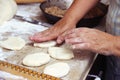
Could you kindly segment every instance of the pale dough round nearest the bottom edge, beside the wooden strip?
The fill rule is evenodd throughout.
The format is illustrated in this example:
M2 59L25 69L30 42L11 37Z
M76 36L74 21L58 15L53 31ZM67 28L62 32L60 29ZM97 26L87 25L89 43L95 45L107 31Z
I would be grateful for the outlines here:
M67 75L70 71L70 67L67 63L58 62L52 65L45 67L44 73L55 76L55 77L63 77Z

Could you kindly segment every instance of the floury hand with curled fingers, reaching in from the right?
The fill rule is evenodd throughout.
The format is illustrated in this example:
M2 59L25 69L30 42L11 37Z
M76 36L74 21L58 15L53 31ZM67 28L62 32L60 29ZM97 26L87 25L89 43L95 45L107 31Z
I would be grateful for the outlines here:
M104 55L112 54L116 37L97 29L78 28L66 32L58 40L65 39L73 49L88 50Z

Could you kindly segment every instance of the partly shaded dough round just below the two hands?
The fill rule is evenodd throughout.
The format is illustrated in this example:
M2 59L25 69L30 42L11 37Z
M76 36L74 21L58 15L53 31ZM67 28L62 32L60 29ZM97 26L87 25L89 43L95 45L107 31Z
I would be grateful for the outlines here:
M74 57L72 50L62 47L49 47L48 53L51 57L60 60L68 60Z

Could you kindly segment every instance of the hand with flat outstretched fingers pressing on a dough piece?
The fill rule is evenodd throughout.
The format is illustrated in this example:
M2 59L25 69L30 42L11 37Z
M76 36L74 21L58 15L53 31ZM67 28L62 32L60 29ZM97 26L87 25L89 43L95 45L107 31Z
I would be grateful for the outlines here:
M75 28L74 24L67 23L66 20L61 19L54 26L49 29L36 33L30 37L30 40L34 42L43 42L56 39L63 32Z

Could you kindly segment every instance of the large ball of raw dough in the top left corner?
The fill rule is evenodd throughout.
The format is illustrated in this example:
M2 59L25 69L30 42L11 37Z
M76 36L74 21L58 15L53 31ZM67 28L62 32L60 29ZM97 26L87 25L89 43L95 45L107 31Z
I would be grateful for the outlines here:
M10 20L17 11L17 4L14 0L0 0L0 25Z

